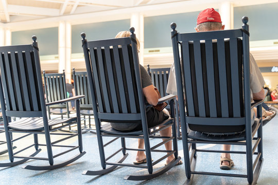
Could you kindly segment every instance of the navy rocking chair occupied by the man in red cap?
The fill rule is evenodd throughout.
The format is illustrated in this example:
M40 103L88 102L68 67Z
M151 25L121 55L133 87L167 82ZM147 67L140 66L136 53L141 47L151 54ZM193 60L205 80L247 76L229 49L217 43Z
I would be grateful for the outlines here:
M250 103L248 17L243 17L242 22L242 29L196 33L178 33L176 24L171 24L187 177L185 184L191 184L195 174L244 177L250 184L255 184L262 168L263 100ZM257 106L257 118L252 125L251 108L254 106ZM201 150L197 149L197 143L243 145L244 151ZM246 154L247 173L195 171L199 152Z

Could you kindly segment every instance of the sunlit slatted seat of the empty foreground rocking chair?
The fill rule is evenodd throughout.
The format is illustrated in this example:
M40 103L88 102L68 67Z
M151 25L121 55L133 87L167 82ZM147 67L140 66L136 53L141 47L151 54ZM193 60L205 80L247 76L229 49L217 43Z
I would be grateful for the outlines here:
M77 117L60 119L60 120L48 120L48 125L53 126L61 123L71 123L76 121L77 121ZM13 130L20 130L20 131L44 130L43 118L42 117L21 118L19 120L9 123L8 127L12 128Z

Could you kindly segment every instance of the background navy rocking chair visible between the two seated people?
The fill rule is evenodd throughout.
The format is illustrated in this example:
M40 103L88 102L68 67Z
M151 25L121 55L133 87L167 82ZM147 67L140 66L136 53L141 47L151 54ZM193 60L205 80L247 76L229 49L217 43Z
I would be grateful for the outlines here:
M167 96L168 93L166 93L167 84L168 84L168 78L169 78L169 72L170 67L165 68L150 68L150 65L148 64L148 73L151 76L152 83L155 87L158 88L159 93L161 97ZM177 122L177 134L178 139L181 139L181 132L180 132L180 120L179 120L179 109L178 109L178 101L175 99L175 107L176 107L176 122ZM168 104L166 109L170 110L170 105Z

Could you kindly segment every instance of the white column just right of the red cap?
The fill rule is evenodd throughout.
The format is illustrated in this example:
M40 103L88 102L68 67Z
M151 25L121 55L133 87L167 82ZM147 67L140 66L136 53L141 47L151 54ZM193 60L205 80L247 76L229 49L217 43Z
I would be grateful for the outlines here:
M230 2L221 3L219 13L225 29L234 29L234 5Z

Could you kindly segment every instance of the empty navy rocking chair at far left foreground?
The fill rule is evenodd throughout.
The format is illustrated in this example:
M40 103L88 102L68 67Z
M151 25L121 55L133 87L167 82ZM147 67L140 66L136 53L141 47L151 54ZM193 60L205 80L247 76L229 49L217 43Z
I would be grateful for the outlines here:
M35 166L26 165L28 170L53 170L70 164L85 154L82 149L82 135L80 125L79 99L84 96L76 96L51 103L45 103L42 73L39 58L39 48L36 36L32 36L33 43L30 45L16 45L0 47L0 100L3 113L4 129L8 147L10 162L0 163L0 167L11 167L21 164L29 159L48 161L48 165ZM46 106L65 103L76 100L77 116L67 119L51 120L47 118ZM16 117L15 121L10 121L10 117ZM78 125L78 133L53 132L71 124ZM15 133L21 135L11 138ZM23 135L24 134L24 135ZM45 136L45 142L39 142L38 134ZM53 136L59 135L61 138L51 141ZM26 143L19 151L13 151L12 144L16 141L24 142L25 137L33 136L33 143ZM77 145L65 145L60 142L76 137ZM40 146L46 146L47 157L36 157L41 151ZM34 152L25 155L31 148ZM61 148L61 152L53 150ZM78 150L77 154L64 162L54 163L54 158L68 152ZM28 151L27 151L28 150ZM22 154L24 152L24 154ZM14 159L20 159L14 161Z

